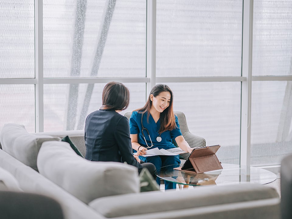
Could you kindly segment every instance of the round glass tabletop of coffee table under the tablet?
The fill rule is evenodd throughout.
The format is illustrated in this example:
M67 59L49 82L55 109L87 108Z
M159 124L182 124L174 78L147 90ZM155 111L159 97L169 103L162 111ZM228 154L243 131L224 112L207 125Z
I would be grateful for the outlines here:
M276 174L273 172L257 167L225 163L221 165L223 169L204 173L175 170L173 168L177 167L177 165L170 165L158 169L157 177L169 182L175 182L179 184L179 187L181 187L180 185L188 187L242 183L267 184L277 179Z

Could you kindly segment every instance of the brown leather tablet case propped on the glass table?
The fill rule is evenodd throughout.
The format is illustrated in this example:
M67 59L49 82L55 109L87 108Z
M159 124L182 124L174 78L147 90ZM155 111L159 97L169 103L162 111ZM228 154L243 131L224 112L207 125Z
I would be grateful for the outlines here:
M217 169L223 169L221 162L216 156L216 152L220 145L212 145L203 148L195 148L189 155L182 167L177 167L177 170L194 171L196 173L203 173Z

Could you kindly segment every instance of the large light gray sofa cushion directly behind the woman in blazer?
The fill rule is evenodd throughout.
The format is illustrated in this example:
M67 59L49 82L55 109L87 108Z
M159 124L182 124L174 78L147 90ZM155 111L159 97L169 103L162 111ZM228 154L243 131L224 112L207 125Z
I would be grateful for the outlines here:
M37 167L40 174L85 203L140 190L136 167L118 162L88 161L64 141L44 142Z

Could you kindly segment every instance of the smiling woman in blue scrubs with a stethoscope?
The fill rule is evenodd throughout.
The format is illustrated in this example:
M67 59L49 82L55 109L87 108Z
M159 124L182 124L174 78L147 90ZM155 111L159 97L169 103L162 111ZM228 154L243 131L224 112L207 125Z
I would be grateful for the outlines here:
M174 139L182 150L189 153L193 151L182 137L172 102L171 89L167 85L157 84L152 88L145 106L133 111L130 118L132 148L142 161L153 163L156 169L175 164L179 166L179 155L141 156L146 154L147 148L175 148L172 143ZM160 179L156 181L160 185ZM176 189L176 183L165 182L165 189Z

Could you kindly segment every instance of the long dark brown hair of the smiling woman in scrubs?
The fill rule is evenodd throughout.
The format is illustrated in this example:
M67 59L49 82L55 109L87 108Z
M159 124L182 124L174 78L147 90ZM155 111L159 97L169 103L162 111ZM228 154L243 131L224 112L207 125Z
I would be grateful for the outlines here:
M169 106L162 112L160 113L160 128L158 130L158 133L162 133L167 130L173 130L176 128L176 120L174 117L173 113L173 93L172 90L169 88L169 86L164 85L164 84L157 84L155 85L149 94L148 100L145 104L140 109L136 109L134 111L138 111L139 113L147 113L147 122L149 123L149 112L152 106L152 101L150 99L150 95L153 94L154 97L158 96L161 92L169 92L170 93L170 103Z

